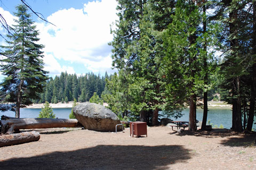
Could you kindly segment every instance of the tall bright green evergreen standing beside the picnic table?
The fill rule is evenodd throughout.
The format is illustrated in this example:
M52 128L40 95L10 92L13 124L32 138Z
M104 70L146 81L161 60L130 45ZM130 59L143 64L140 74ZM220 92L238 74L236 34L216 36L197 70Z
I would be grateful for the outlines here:
M204 14L193 1L177 1L172 23L163 31L164 52L162 67L167 79L167 97L170 100L186 100L189 104L189 130L196 130L196 102L199 90L205 88L205 76L209 70L205 62L207 41L212 43L214 31L202 29ZM173 96L170 96L173 95Z

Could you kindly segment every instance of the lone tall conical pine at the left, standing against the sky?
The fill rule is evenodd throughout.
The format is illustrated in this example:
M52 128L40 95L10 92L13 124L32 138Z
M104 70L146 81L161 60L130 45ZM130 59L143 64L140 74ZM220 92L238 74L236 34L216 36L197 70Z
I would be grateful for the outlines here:
M32 99L38 99L43 92L47 72L43 70L43 45L36 44L39 35L31 15L25 5L16 7L18 20L13 25L14 33L7 35L6 43L1 46L6 49L1 55L0 70L6 75L0 84L4 92L2 101L13 103L2 110L15 111L15 117L20 116L20 108L32 104Z

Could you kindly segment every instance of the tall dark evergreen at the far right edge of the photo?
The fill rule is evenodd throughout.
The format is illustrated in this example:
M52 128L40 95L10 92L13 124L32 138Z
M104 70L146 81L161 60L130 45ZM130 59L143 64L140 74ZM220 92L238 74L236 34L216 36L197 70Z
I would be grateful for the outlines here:
M223 62L221 64L221 88L227 96L225 101L232 104L232 129L243 131L246 113L249 111L251 129L255 108L255 21L253 9L255 1L223 1L218 4L216 16L226 27L220 40L223 41ZM254 49L254 50L253 50ZM250 76L249 76L250 75ZM250 104L250 109L248 109ZM244 114L242 114L244 113ZM245 127L244 127L245 128Z

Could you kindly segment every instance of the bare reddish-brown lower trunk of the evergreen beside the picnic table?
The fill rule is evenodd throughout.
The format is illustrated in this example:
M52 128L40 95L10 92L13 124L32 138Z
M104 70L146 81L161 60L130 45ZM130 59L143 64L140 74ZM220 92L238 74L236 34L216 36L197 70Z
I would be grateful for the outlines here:
M189 125L188 130L191 132L196 131L196 95L190 96L190 102L189 102Z

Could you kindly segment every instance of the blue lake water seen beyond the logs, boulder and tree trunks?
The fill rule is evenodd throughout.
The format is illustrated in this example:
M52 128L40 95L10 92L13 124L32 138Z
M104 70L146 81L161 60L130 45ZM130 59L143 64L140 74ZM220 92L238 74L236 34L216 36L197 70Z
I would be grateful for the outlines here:
M58 118L69 118L69 114L71 113L71 108L53 108L53 113ZM21 108L20 109L20 117L21 118L34 118L38 117L41 108ZM189 109L185 109L182 111L184 114L182 117L175 119L174 117L170 117L174 121L188 121L189 117ZM0 116L6 115L14 117L14 112L0 112ZM197 109L196 119L198 121L202 121L203 119L203 109ZM232 126L232 112L230 108L210 108L207 115L207 123L210 120L210 123L217 126L223 125L224 128L230 129ZM254 117L254 122L256 122ZM256 125L253 124L253 129L256 129Z

